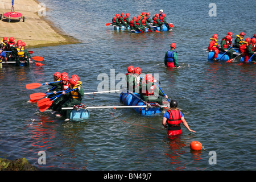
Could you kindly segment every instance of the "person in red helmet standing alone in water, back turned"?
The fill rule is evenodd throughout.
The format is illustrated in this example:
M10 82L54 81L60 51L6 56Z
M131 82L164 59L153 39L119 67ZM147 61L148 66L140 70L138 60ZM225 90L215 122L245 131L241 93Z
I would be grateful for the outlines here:
M164 56L164 64L167 65L168 68L179 68L179 64L177 62L177 52L174 51L176 48L175 43L171 43L170 45L171 49L166 52L166 55Z

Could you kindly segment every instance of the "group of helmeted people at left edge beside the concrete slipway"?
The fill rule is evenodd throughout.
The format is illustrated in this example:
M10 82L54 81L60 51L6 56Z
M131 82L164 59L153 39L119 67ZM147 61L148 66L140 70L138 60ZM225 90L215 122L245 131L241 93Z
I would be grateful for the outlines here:
M18 66L20 61L24 61L24 65L30 65L31 55L25 47L26 43L22 42L22 40L18 40L15 43L15 38L10 37L8 40L7 37L4 37L0 44L1 61L15 61L15 65Z

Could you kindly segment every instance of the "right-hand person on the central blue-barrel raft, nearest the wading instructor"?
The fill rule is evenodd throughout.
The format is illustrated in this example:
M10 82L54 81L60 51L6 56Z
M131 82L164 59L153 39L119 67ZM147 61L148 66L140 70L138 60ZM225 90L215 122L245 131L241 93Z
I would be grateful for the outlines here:
M151 74L147 74L144 77L141 85L141 98L146 102L157 102L159 105L163 105L163 96L168 98L168 96L164 96L163 92L159 89L159 87L155 86L155 78Z

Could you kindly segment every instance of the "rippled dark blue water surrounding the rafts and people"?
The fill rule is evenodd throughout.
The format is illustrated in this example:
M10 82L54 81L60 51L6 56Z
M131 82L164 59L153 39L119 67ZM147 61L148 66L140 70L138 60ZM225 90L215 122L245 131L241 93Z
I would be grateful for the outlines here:
M255 1L216 2L217 16L210 17L211 1L79 1L41 0L47 18L81 44L31 49L44 57L44 67L3 67L0 74L0 158L25 157L40 170L255 170L255 65L209 63L207 48L213 34L221 40L229 31L245 37L256 33ZM237 11L237 7L241 11ZM229 9L228 16L226 9ZM163 9L173 31L131 34L114 31L116 13L151 15ZM241 20L240 12L243 14ZM219 40L219 42L220 42ZM179 69L164 67L164 53L176 43ZM52 81L53 73L79 75L85 92L96 92L102 80L126 73L129 65L143 73L158 73L160 86L178 101L189 126L183 134L168 138L162 115L143 117L131 109L90 110L87 122L65 122L51 111L40 113L28 102L32 82ZM115 81L117 84L119 80ZM85 96L88 106L117 106L119 94ZM197 140L204 149L191 152ZM38 164L38 152L46 152L46 164ZM217 164L209 164L215 151Z

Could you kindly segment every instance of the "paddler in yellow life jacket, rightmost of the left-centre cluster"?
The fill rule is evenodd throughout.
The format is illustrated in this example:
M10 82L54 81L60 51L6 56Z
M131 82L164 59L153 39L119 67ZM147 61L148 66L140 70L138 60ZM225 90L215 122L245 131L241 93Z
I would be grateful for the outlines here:
M82 97L84 97L84 90L82 89L82 82L77 81L76 78L71 78L69 80L70 83L70 89L76 89L68 93L63 93L66 95L69 100L67 100L64 104L63 107L73 107L74 105L79 105L81 104ZM65 114L65 121L69 121L71 110L67 110L63 112Z

